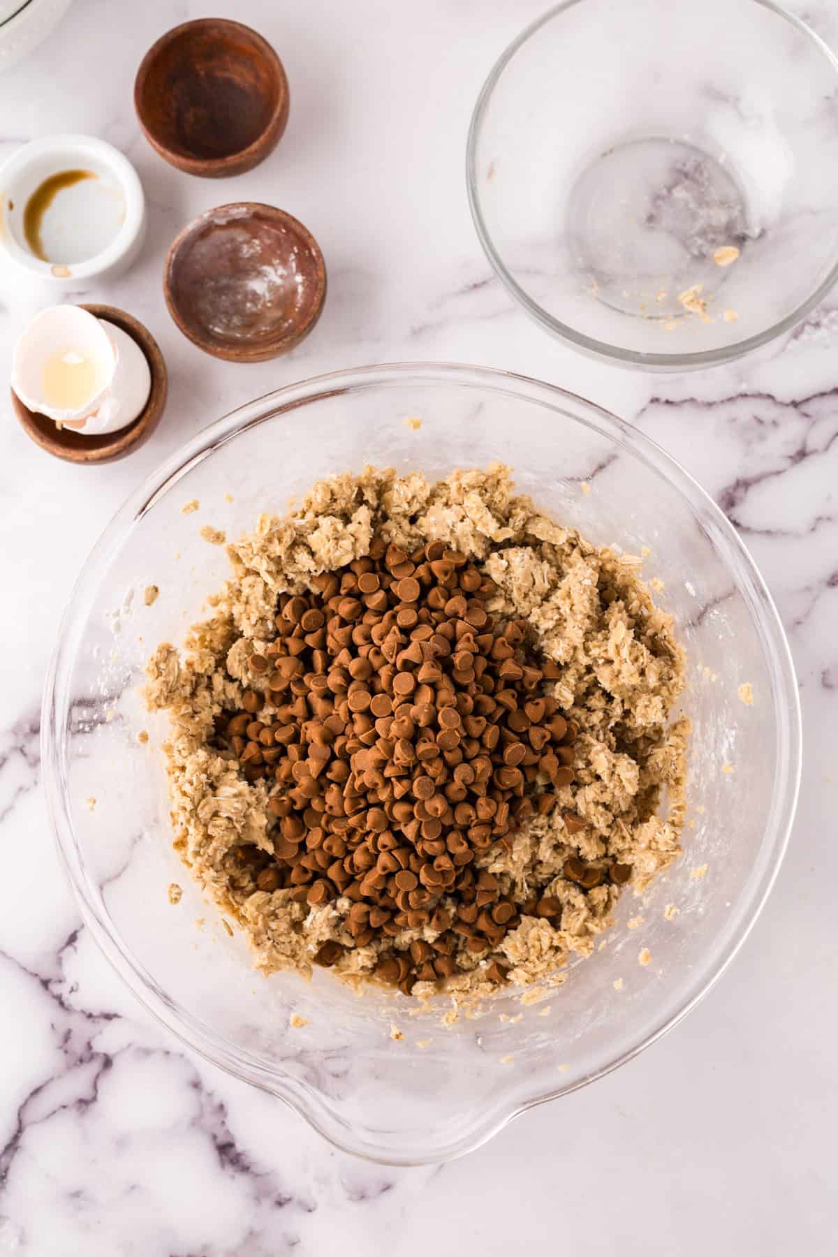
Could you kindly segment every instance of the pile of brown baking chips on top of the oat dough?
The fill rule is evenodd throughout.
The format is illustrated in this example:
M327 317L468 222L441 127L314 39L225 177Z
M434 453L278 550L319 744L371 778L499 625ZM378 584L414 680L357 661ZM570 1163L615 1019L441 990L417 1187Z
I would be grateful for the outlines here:
M410 993L454 974L464 949L489 957L521 911L560 919L558 899L516 904L476 864L554 807L573 781L577 729L543 693L559 669L536 661L525 621L490 615L492 581L441 542L408 554L377 538L313 583L280 596L276 639L250 657L244 710L217 735L249 781L275 782L259 889L310 906L346 896L354 947L430 926L433 941L384 949L376 969ZM564 812L569 833L582 823ZM584 889L603 880L567 865ZM317 962L342 952L325 943ZM505 973L486 967L492 982Z

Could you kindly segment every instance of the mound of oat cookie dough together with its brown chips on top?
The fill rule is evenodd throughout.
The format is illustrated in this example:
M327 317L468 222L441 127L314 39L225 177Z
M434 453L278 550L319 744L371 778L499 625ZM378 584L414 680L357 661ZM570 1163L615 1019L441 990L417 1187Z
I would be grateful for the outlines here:
M681 851L683 656L639 559L501 465L335 475L227 553L146 696L176 847L255 965L558 985Z

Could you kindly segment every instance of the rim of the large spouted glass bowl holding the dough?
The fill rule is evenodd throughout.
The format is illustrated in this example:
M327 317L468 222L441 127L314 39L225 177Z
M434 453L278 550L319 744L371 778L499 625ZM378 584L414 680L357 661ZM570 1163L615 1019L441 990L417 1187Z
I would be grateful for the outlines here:
M750 897L740 896L735 909L737 919L730 926L729 941L719 955L715 968L702 977L694 988L685 983L687 993L675 1002L675 1008L658 1014L656 1024L641 1041L613 1060L608 1060L587 1076L564 1086L555 1086L525 1101L504 1102L503 1089L498 1089L498 1101L490 1111L472 1115L472 1121L465 1134L449 1144L410 1146L403 1153L389 1153L382 1156L372 1139L364 1139L363 1133L349 1126L343 1117L314 1087L307 1082L289 1077L280 1067L270 1065L258 1056L230 1045L222 1035L199 1021L192 1013L180 1007L158 985L155 978L137 962L116 929L111 929L99 913L98 905L89 891L84 861L74 837L70 802L67 789L67 739L64 737L65 713L69 699L69 679L75 662L78 641L87 621L90 595L95 593L99 578L108 571L111 559L119 552L128 533L155 503L171 489L192 466L221 449L240 432L248 431L261 422L286 415L310 402L339 396L342 393L362 392L376 387L397 386L403 382L431 386L462 386L466 388L487 390L506 397L516 397L534 402L553 411L557 416L594 429L617 446L651 466L671 486L680 490L687 507L694 513L705 513L705 518L715 525L714 546L726 547L722 557L726 566L736 558L740 563L737 576L749 582L749 588L759 616L754 615L760 628L766 662L771 670L778 691L783 693L785 710L784 735L784 773L778 773L774 783L773 810L766 823L766 835L773 830L770 841L763 840L760 852L765 852L760 877L753 885ZM565 409L569 407L569 409ZM749 605L750 608L750 605ZM754 613L751 611L751 613ZM775 720L779 713L775 705ZM170 1032L172 1032L191 1051L197 1052L211 1063L220 1066L227 1073L270 1095L284 1100L309 1125L318 1130L334 1146L373 1161L392 1165L418 1165L450 1160L480 1146L503 1129L513 1117L548 1100L558 1099L594 1081L594 1079L617 1068L648 1047L694 1008L721 977L734 955L750 933L779 871L785 852L800 782L802 729L800 706L797 679L785 632L770 593L754 564L746 547L712 499L696 480L662 446L618 419L609 411L589 402L555 385L544 383L528 376L491 367L474 367L459 363L433 362L396 362L377 366L354 367L314 376L298 383L286 385L268 392L254 401L236 407L221 419L202 429L183 446L165 459L132 493L116 515L104 528L93 547L82 572L73 587L58 631L58 640L50 660L44 688L41 709L41 762L44 766L44 791L50 823L57 840L60 861L64 866L70 887L79 905L83 923L89 928L107 960L122 980ZM753 879L751 879L753 880ZM731 914L732 916L734 914Z

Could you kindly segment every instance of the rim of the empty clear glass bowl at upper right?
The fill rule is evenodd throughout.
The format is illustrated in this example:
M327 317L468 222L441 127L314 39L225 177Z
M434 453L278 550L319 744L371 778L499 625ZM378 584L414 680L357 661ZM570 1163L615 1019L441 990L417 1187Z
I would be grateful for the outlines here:
M530 318L535 319L536 323L553 336L558 337L558 339L580 349L588 356L616 363L619 367L637 367L647 371L686 371L697 370L700 367L712 367L724 362L732 362L736 358L743 357L743 354L750 353L751 351L768 344L778 336L790 332L792 328L804 319L805 316L824 299L838 279L838 253L829 274L818 284L814 292L807 297L805 300L800 302L789 314L785 314L781 319L778 319L776 323L770 324L761 332L745 337L743 341L736 341L732 344L721 346L717 349L702 349L697 353L643 353L637 349L621 348L621 346L611 344L608 341L598 341L596 337L585 336L583 332L577 332L569 323L563 323L560 319L554 318L553 314L548 313L543 305L539 305L539 303L529 295L526 289L518 283L515 277L506 268L500 251L495 248L480 205L477 172L477 146L480 143L486 111L489 109L494 91L500 82L504 70L524 44L529 43L530 39L538 35L541 28L553 21L554 18L560 16L568 9L575 9L577 5L585 3L588 3L588 0L562 0L560 4L554 5L552 9L548 9L547 13L543 13L539 18L535 18L534 21L529 23L529 25L526 25L500 54L480 89L471 113L469 137L466 141L466 191L469 196L471 219L475 231L477 233L480 245L504 288L511 297L515 298L519 305L524 307ZM769 10L778 18L785 19L785 21L794 26L800 35L810 39L818 52L820 52L830 63L833 70L835 72L835 85L838 87L838 55L832 52L820 35L818 35L817 31L803 21L802 18L789 13L781 5L775 4L774 0L739 0L739 3L755 4L760 9Z

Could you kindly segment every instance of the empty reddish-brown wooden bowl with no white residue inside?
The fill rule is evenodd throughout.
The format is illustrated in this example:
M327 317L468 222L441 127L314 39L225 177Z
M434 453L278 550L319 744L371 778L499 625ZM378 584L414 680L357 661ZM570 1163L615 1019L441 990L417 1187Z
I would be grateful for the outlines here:
M279 57L250 26L204 18L162 35L142 59L134 108L148 142L188 175L253 170L288 122Z

